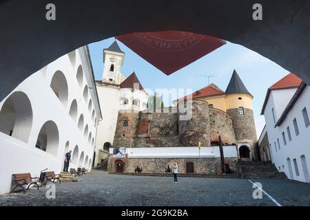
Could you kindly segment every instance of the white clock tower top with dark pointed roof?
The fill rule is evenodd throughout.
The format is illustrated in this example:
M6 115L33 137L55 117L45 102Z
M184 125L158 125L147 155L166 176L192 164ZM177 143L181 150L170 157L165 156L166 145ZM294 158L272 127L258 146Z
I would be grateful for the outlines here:
M103 50L103 83L120 85L123 81L121 66L124 62L125 53L118 47L116 41L107 49Z

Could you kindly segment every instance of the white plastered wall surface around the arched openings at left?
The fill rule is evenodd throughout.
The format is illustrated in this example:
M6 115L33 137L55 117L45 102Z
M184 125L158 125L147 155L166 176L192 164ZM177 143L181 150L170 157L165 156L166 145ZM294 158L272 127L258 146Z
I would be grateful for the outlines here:
M72 120L69 115L70 104L75 99L78 104L78 118L83 113L84 127L88 124L89 132L95 138L96 124L92 120L92 112L87 109L87 104L90 98L96 97L96 94L90 89L90 95L87 102L85 102L83 91L76 80L76 69L79 65L82 65L84 70L83 87L86 84L91 85L93 83L90 81L92 80L91 72L87 70L89 66L86 66L89 63L83 61L85 54L80 54L85 51L85 48L80 49L76 50L74 56L72 56L74 62L70 61L67 54L61 56L61 58L50 63L41 71L32 74L14 89L14 91L21 91L28 96L32 107L33 120L28 142L21 142L14 137L0 133L0 166L3 168L0 173L0 194L10 191L13 173L31 173L32 176L38 177L40 170L44 168L59 173L63 166L65 144L67 142L69 142L69 150L73 151L74 146L79 146L79 157L83 152L84 158L88 156L88 158L92 159L94 145L92 145L92 142L88 142L88 138L85 138L78 129L77 121ZM73 63L74 65L72 65ZM52 76L56 71L63 72L68 83L68 103L65 106L50 87ZM0 103L0 109L5 101L6 99ZM97 103L97 101L93 100L93 103ZM99 105L96 104L93 108L96 109L96 118L99 118L100 116L97 116L100 112ZM35 147L41 127L49 120L56 124L59 131L59 146L56 155L41 151ZM76 166L77 164L70 165L71 168L76 168ZM87 166L87 168L90 167Z

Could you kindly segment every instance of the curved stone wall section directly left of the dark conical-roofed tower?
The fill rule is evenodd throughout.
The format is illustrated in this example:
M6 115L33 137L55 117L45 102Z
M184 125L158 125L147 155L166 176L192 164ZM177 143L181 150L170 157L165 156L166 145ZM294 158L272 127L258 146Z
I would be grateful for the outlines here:
M223 144L236 144L231 117L218 109L209 109L209 115L210 142L218 142L218 135L220 135Z

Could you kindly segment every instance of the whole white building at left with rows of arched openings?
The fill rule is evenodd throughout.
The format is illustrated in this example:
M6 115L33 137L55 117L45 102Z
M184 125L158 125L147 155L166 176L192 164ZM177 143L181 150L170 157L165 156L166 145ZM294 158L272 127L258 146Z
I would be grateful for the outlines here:
M0 194L13 173L60 173L69 150L70 168L90 169L100 119L87 46L26 78L0 102Z

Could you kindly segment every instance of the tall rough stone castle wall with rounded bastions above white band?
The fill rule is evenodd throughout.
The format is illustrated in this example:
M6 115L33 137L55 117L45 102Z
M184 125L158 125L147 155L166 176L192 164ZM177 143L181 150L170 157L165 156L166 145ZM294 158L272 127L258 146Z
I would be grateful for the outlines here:
M239 115L238 109L225 113L209 109L204 100L193 100L189 120L180 120L180 114L174 112L119 112L113 146L198 146L198 142L210 146L218 145L220 135L223 144L249 142L254 150L257 137L253 111L244 111L245 115ZM125 119L127 126L123 124Z

